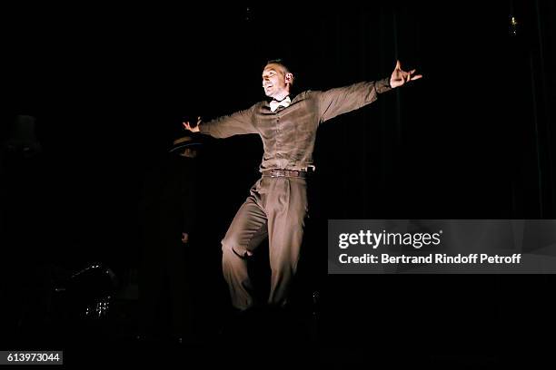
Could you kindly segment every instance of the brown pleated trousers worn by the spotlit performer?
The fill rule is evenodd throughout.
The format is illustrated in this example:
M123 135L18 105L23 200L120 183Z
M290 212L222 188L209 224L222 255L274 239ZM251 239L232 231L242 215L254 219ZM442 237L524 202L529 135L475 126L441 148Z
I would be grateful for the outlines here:
M268 237L271 287L268 303L283 306L297 269L307 215L307 182L297 177L263 176L237 211L222 240L223 276L233 307L253 306L247 259Z

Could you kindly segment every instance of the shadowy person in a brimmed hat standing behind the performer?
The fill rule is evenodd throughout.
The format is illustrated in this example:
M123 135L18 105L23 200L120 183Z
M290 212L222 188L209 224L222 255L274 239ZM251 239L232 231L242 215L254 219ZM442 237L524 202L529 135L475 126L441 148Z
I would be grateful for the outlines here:
M148 173L140 201L140 336L179 343L194 338L191 268L197 236L195 136L176 139Z

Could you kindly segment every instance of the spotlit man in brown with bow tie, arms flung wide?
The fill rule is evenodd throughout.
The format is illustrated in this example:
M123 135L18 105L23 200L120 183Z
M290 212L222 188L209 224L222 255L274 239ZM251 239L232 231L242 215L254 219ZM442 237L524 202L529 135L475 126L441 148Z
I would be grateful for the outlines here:
M247 259L264 238L269 239L271 288L268 304L283 307L300 255L307 215L307 175L313 166L313 148L319 125L345 112L374 102L379 94L422 75L405 72L398 61L390 78L354 83L324 92L291 95L294 76L280 60L263 69L268 101L211 122L184 122L189 131L214 138L256 133L263 140L262 177L237 211L222 240L223 275L233 307L253 307L253 285Z

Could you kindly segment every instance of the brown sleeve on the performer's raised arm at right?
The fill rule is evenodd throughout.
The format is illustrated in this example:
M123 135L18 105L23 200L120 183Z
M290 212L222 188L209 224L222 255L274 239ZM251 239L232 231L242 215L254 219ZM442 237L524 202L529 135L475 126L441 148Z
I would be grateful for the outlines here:
M354 83L325 92L316 92L320 122L325 122L340 114L362 108L374 102L379 93L385 93L391 89L390 78L384 78L378 81Z

